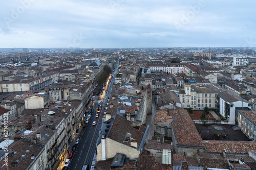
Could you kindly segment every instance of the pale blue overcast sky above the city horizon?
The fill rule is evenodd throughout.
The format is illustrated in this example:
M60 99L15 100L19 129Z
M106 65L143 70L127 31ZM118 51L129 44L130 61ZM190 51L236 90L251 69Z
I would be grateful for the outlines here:
M0 48L255 47L256 1L1 0Z

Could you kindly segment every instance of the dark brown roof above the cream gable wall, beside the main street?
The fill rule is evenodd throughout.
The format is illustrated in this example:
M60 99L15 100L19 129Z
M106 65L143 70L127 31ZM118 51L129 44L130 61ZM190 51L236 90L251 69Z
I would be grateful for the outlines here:
M116 115L115 120L112 124L110 132L108 134L108 138L118 141L120 143L131 146L131 141L123 142L126 133L131 134L131 138L137 141L137 148L140 145L143 134L145 132L145 128L136 129L132 127L132 121L127 120L125 117L120 115ZM141 125L143 127L144 125ZM145 127L145 126L144 126Z

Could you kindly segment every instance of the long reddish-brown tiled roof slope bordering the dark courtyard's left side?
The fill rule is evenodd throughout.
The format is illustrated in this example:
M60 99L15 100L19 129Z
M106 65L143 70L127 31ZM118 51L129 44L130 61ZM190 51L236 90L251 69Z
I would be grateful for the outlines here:
M169 114L174 120L173 129L178 145L203 146L202 138L185 109L169 110Z

